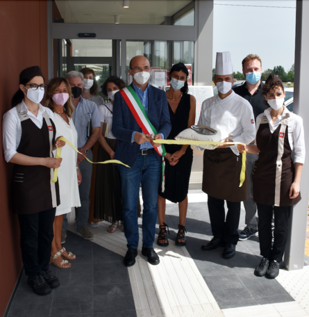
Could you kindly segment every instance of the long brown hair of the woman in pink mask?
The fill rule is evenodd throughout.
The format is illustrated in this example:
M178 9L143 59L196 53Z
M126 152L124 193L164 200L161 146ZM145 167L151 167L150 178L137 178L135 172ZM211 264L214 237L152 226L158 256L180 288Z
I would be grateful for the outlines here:
M45 106L51 109L51 111L55 112L55 107L53 106L53 95L55 90L61 85L61 83L65 83L65 86L67 86L67 93L69 94L69 99L67 99L67 102L63 106L63 112L68 117L72 117L72 113L74 113L74 106L72 104L72 90L67 79L64 79L63 77L55 77L51 79L51 81L49 81L45 97Z

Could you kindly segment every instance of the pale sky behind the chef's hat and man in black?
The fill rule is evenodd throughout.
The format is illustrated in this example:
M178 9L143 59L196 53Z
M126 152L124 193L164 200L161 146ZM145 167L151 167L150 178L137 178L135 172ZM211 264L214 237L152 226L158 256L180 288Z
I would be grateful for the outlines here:
M234 72L242 72L242 60L248 54L260 56L262 70L279 65L285 72L290 70L294 64L295 7L296 0L215 0L213 68L217 51L230 51Z

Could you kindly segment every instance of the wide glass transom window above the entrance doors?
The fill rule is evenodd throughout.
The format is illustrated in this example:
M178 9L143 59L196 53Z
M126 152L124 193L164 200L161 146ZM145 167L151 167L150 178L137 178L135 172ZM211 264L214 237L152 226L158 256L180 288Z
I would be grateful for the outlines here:
M160 4L158 5L158 3ZM53 21L61 17L65 23L175 24L194 25L192 0L130 0L123 8L122 0L56 0Z

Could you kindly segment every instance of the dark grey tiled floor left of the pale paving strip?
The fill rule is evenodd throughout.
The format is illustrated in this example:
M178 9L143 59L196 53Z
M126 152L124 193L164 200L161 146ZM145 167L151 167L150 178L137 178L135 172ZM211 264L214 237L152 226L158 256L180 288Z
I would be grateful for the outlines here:
M60 287L37 296L23 275L8 316L12 317L136 317L128 269L123 257L67 231L72 268L49 266Z

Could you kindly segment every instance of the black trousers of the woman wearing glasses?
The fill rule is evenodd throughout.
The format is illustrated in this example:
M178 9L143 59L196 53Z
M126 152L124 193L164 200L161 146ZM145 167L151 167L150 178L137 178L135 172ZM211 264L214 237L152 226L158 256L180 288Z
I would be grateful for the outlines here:
M55 213L56 208L53 208L31 215L18 215L22 261L29 277L49 269Z

